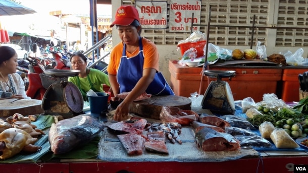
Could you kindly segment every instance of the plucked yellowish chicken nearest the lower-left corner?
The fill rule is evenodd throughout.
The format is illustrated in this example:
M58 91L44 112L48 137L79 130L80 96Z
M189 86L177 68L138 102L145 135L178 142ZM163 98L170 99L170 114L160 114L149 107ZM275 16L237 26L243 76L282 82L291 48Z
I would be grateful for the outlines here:
M0 159L6 159L20 151L36 152L41 147L33 145L37 138L32 138L27 132L10 128L0 134Z

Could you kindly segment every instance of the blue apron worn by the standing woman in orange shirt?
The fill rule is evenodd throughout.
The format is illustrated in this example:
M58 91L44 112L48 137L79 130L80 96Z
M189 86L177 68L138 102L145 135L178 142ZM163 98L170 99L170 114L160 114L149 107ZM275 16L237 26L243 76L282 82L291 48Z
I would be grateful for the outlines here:
M126 56L126 45L124 44L123 53L120 61L120 66L117 73L117 80L120 84L120 93L130 92L139 79L142 77L143 72L143 46L142 38L139 37L139 53L133 57ZM168 85L162 73L156 73L153 81L145 90L147 94L155 95L174 95L174 92Z

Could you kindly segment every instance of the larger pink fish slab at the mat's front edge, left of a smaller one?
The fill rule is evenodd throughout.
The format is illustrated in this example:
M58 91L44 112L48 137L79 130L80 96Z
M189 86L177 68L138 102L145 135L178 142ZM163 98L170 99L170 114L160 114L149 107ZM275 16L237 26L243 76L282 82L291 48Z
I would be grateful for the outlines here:
M141 155L145 139L137 134L128 133L124 135L117 135L128 155Z

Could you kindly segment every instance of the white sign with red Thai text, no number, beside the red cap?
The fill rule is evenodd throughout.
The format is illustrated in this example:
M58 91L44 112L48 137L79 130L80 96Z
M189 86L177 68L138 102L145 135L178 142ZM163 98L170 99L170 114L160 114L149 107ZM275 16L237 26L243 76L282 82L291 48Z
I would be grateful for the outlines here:
M144 29L167 28L167 2L136 1L139 22Z

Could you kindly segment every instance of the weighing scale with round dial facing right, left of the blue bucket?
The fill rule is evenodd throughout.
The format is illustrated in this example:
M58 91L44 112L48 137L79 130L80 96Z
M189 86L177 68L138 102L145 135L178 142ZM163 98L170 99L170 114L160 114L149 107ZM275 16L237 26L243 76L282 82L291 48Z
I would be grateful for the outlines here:
M83 112L83 97L78 87L72 82L60 81L64 77L77 76L79 72L79 70L44 70L45 75L57 78L57 82L51 84L43 96L41 106L45 114L61 115L66 119Z

